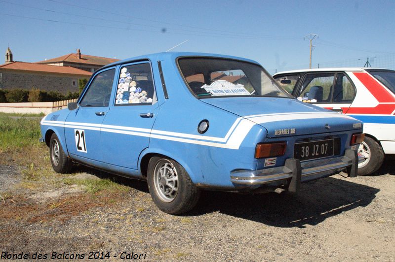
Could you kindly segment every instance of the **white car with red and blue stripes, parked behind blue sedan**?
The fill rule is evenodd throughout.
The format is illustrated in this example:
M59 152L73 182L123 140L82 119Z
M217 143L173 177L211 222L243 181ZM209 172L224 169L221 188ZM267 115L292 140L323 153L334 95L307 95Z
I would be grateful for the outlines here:
M380 68L316 68L278 72L277 83L301 101L363 121L365 158L359 175L372 174L395 154L395 71Z

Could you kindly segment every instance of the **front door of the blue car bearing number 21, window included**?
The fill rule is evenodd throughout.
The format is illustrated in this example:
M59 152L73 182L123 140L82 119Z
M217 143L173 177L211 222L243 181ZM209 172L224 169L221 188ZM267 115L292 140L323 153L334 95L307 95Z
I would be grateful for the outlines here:
M67 150L81 161L100 161L100 127L109 111L115 67L97 72L88 83L79 107L70 112L65 123Z

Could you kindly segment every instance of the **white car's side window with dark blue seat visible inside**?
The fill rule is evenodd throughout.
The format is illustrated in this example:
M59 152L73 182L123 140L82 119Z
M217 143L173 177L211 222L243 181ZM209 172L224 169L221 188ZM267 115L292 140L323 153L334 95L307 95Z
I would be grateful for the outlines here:
M307 74L299 97L306 102L329 102L334 79L334 73Z

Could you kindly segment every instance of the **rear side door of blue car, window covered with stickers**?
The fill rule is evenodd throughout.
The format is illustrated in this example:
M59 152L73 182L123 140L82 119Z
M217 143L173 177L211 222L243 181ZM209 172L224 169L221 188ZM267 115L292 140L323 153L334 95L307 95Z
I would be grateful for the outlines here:
M138 169L158 115L151 63L121 65L117 76L116 98L101 129L103 162Z

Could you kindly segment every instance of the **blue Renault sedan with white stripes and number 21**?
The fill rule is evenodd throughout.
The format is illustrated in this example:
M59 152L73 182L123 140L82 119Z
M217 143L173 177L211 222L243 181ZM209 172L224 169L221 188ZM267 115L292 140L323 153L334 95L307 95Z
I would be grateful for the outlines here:
M45 116L56 172L73 162L144 179L159 209L192 209L201 189L298 192L356 176L362 123L298 101L257 62L159 53L97 70L77 103Z

